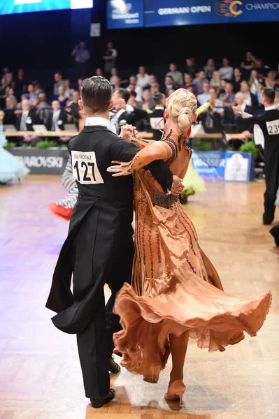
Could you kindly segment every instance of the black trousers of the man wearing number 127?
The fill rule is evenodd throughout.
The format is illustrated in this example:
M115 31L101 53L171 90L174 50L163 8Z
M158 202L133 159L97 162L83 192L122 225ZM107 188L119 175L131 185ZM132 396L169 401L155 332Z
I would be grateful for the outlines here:
M77 240L72 244L72 269L76 265ZM78 355L83 372L85 397L100 398L108 394L110 376L108 372L108 359L113 353L113 333L121 330L119 317L113 314L116 293L123 283L131 281L131 265L134 256L133 243L121 247L122 256L115 257L112 263L111 274L107 279L112 295L105 306L104 293L101 293L99 305L89 327L77 334ZM108 260L108 263L110 261ZM73 281L75 275L73 274Z

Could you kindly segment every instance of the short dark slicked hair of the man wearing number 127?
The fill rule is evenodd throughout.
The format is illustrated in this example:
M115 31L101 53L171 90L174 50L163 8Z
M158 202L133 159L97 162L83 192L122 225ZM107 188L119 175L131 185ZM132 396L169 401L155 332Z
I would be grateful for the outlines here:
M105 112L110 107L111 102L110 82L99 75L94 75L90 79L83 80L81 85L81 100L85 108L92 113Z

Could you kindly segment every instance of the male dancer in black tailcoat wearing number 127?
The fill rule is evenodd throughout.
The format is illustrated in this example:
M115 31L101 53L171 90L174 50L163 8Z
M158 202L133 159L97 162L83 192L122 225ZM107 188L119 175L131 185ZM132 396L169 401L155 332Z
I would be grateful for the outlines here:
M106 169L112 161L130 161L138 149L110 131L111 97L105 78L83 81L80 108L87 117L85 128L69 142L78 202L46 304L58 313L52 318L55 326L77 335L85 395L94 407L115 397L108 360L113 332L120 330L120 324L112 309L117 291L131 281L134 257L132 178L112 177ZM166 163L153 162L148 169L167 193L173 175ZM106 307L104 284L112 291Z

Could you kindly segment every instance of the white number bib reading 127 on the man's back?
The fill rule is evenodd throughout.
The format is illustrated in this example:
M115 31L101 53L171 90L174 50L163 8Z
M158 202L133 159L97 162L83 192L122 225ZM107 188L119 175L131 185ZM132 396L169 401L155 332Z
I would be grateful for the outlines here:
M95 152L71 152L73 176L83 185L102 184Z

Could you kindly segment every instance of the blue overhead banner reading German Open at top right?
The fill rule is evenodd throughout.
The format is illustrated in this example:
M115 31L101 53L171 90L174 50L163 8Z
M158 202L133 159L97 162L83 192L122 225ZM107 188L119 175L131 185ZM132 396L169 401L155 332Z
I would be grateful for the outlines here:
M108 0L108 29L189 24L275 22L279 1Z

